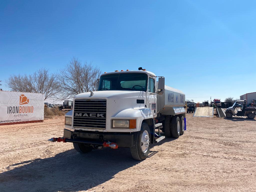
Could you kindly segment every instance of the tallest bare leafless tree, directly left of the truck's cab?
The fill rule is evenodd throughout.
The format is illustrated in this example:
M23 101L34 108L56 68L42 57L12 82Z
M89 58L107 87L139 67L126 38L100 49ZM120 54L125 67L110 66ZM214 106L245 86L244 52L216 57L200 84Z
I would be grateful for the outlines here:
M73 57L65 68L61 69L57 75L58 79L58 99L74 98L79 93L97 90L97 79L100 77L101 70Z

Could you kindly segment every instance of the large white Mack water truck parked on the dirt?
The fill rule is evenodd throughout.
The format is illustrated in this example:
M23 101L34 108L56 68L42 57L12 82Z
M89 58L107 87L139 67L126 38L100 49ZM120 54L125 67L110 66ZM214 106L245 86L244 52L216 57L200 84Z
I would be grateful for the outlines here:
M184 133L184 105L182 91L166 86L164 77L141 67L105 72L98 80L98 91L75 96L73 110L65 116L63 137L48 141L72 142L80 153L130 147L132 157L143 160L150 144Z

